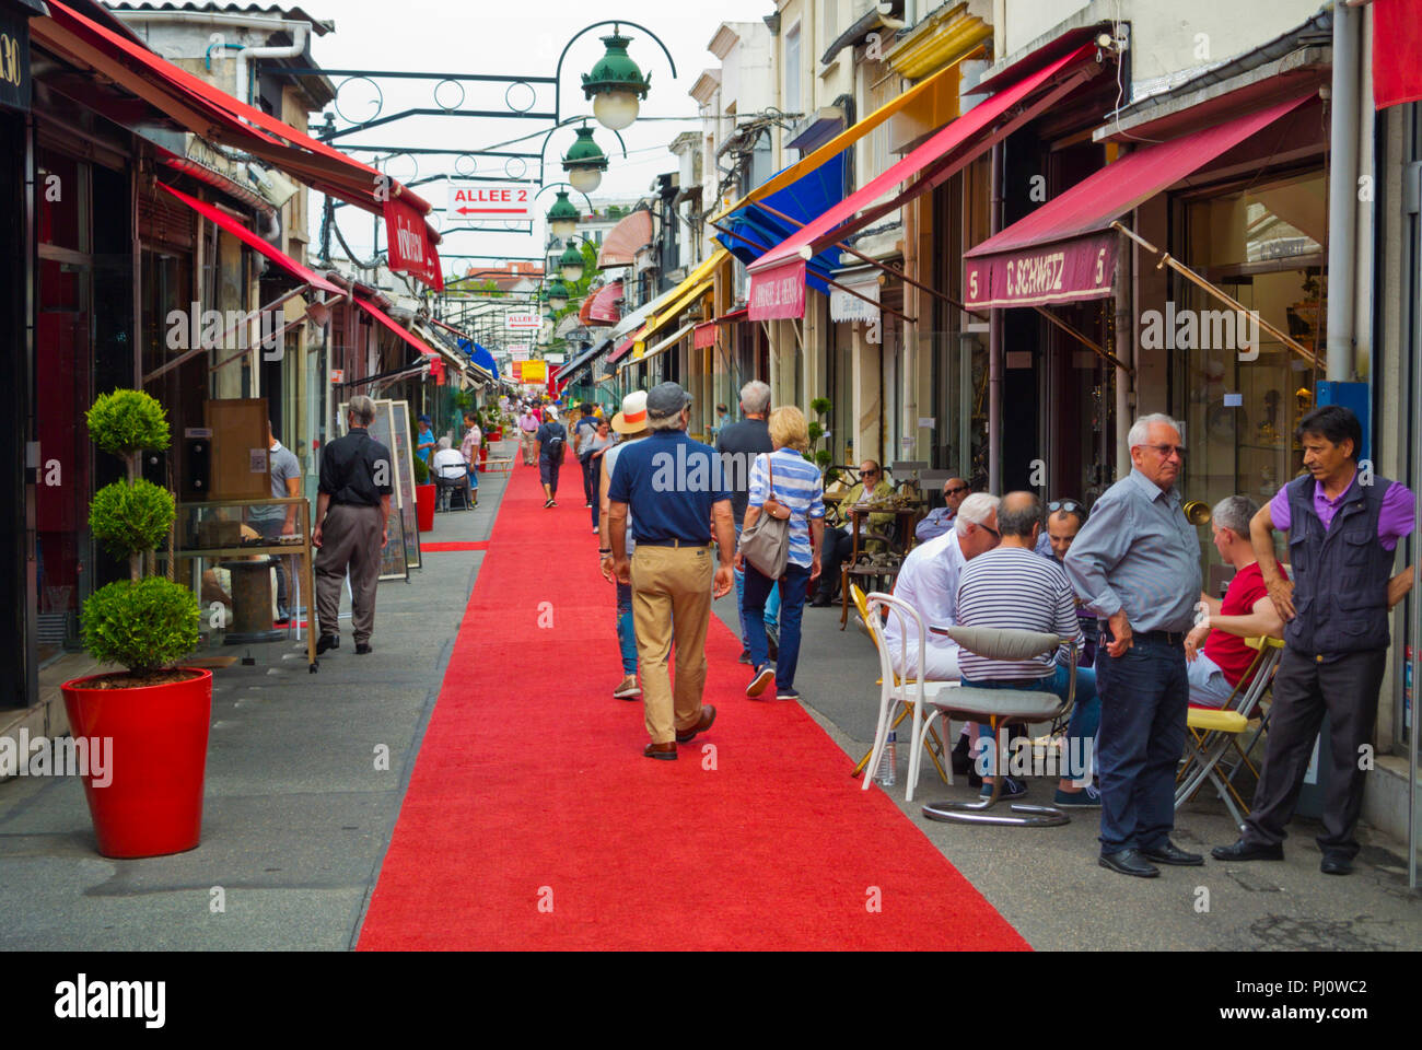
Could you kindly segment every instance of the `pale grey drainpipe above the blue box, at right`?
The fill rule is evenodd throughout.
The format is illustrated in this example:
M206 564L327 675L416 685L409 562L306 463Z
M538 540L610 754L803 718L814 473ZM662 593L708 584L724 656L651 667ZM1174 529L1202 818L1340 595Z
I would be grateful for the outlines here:
M1328 378L1352 377L1358 208L1361 11L1335 3L1328 132ZM1372 128L1372 122L1368 122Z

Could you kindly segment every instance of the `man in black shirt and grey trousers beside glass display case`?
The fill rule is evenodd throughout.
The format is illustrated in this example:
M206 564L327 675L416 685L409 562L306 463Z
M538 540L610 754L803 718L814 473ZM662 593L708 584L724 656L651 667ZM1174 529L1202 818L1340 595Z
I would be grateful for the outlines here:
M370 435L375 403L364 394L351 398L346 437L321 450L321 484L316 498L316 652L337 649L340 636L341 579L351 578L351 627L356 653L370 652L375 627L375 588L380 552L390 528L390 494L394 491L394 458Z

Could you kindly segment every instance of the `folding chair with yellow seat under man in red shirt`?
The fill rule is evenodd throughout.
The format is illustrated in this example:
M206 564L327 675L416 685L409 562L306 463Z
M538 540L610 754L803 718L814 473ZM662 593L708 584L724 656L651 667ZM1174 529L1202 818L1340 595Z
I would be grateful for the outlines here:
M1274 672L1284 654L1284 640L1278 637L1247 637L1244 645L1257 652L1224 706L1220 709L1192 706L1189 709L1186 744L1190 753L1182 761L1175 781L1176 810L1190 801L1207 780L1214 785L1237 825L1244 824L1249 804L1234 788L1234 774L1240 767L1249 767L1254 778L1258 778L1258 770L1250 761L1249 750L1258 738L1261 727L1256 728L1247 747L1240 746L1240 737L1249 730L1251 721L1258 720L1258 704L1273 683ZM1229 777L1221 777L1219 764L1230 748L1239 755L1239 761L1230 770Z

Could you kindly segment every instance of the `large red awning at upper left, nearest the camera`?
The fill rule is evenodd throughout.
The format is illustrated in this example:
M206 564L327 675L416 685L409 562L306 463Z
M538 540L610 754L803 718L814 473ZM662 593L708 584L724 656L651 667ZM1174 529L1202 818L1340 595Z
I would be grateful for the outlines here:
M368 212L381 213L384 202L395 198L419 216L429 213L427 201L374 168L237 101L61 0L51 0L48 7L47 18L30 20L38 43L112 80L195 135L250 152L316 191ZM439 233L428 221L422 225L429 243L438 245Z

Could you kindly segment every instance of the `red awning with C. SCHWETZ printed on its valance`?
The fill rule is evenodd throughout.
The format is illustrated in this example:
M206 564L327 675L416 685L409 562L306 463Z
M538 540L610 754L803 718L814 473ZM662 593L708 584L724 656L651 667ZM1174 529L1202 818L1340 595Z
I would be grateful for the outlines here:
M1109 296L1111 223L1295 110L1314 90L1192 135L1142 147L964 253L970 307L1041 306ZM1287 138L1287 129L1280 132Z

